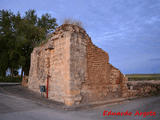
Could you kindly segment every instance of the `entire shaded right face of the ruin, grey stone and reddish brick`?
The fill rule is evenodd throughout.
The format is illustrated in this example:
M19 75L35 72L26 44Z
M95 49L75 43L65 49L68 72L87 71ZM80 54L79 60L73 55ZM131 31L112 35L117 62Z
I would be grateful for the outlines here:
M73 26L70 30L72 104L126 96L127 79L109 63L108 54L96 47L83 29Z

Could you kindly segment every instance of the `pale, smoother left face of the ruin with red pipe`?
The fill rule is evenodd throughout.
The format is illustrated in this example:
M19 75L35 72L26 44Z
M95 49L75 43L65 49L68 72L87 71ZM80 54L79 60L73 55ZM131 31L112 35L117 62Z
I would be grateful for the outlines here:
M28 87L40 92L39 86L47 86L48 98L65 102L69 95L70 34L57 30L48 42L33 50Z

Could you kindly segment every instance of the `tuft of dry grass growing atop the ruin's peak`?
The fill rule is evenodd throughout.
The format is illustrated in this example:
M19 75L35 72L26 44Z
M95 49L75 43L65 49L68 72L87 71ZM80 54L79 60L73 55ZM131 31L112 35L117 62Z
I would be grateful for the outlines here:
M81 21L70 19L70 18L64 19L63 24L72 24L72 25L77 25L83 28Z

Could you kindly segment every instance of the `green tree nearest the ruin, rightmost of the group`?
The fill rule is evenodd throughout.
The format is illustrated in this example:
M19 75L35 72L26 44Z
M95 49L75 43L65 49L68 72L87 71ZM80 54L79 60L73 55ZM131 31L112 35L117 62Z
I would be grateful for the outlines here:
M28 75L30 67L30 54L33 48L45 40L48 33L55 30L57 24L56 19L52 18L49 14L44 14L38 18L35 10L27 11L21 24L22 27L20 31L22 32L22 36L19 37L22 41L22 45L20 46L22 47L21 49L23 49L23 51L21 51L21 65L24 74Z

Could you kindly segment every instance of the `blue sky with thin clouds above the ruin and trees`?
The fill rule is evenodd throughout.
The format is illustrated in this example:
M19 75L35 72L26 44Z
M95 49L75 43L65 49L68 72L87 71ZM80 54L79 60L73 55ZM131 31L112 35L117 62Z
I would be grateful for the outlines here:
M123 73L160 73L160 0L0 0L0 9L80 20Z

